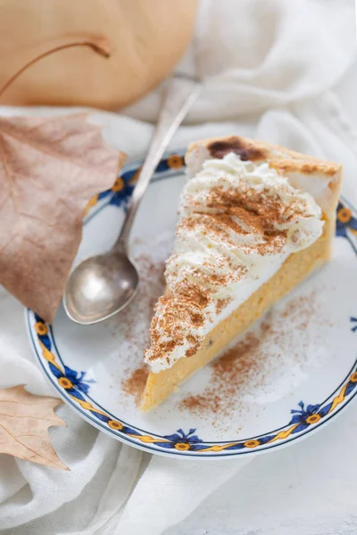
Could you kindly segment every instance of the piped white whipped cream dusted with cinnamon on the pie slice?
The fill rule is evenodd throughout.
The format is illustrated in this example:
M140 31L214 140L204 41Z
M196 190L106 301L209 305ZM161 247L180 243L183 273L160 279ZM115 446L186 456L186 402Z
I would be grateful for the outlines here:
M320 206L268 163L233 152L203 162L181 196L174 251L166 264L145 351L154 373L191 357L204 336L322 234Z

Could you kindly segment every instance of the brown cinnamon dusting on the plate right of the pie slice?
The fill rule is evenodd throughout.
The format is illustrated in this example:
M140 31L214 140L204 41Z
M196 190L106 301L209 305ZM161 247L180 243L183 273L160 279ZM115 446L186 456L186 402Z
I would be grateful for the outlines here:
M313 318L313 337L319 337L317 325L326 320L317 313L316 293L297 297L268 315L261 324L245 333L233 347L211 364L211 379L204 390L188 395L179 409L193 416L205 416L215 422L237 415L245 399L259 395L270 383L272 374L289 360L297 366L306 359L311 344L308 326ZM293 352L294 351L294 352Z

